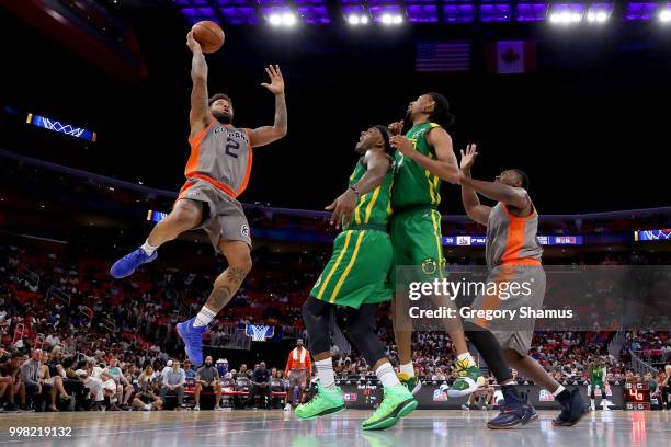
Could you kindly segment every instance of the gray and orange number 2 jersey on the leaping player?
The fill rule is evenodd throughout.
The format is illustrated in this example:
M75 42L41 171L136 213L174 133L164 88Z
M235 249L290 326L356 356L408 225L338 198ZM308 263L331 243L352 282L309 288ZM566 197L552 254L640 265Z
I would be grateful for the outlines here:
M201 179L231 197L238 197L249 181L252 147L248 129L224 126L213 119L193 138L186 162L186 179Z

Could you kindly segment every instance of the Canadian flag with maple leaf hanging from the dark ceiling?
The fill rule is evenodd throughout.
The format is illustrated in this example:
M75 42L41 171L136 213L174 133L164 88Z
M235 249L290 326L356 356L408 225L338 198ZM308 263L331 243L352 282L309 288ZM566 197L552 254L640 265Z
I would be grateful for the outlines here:
M536 42L498 41L487 48L487 68L500 74L536 71Z

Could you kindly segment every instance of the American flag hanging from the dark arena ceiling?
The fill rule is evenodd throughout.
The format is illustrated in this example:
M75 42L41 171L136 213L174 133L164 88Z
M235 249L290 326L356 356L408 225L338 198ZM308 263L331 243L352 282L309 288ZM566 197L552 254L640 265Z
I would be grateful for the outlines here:
M469 69L469 42L430 42L417 44L416 71L468 71Z

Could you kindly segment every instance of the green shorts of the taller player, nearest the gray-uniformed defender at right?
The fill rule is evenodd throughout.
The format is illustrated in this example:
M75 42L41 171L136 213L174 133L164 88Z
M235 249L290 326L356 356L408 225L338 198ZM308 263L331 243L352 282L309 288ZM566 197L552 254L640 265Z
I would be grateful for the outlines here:
M391 220L394 265L389 279L396 284L396 267L414 267L416 280L443 277L445 257L441 236L441 214L434 208L399 213Z

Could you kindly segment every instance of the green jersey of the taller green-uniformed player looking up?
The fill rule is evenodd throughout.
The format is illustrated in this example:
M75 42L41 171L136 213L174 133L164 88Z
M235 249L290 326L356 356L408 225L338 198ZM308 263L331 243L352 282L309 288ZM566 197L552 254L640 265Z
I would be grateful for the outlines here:
M427 133L435 123L420 123L412 126L406 137L420 153L435 159L435 153L427 141ZM441 203L441 179L431 174L414 160L396 152L396 180L391 192L391 206L396 210L421 205L439 206Z

